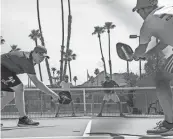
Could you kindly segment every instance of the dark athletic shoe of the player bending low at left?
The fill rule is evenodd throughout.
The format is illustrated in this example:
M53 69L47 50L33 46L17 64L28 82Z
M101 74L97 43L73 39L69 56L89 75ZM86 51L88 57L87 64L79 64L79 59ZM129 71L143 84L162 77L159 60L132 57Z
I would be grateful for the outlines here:
M17 126L23 127L23 126L38 126L39 122L34 122L32 119L28 118L28 116L24 116L19 118L19 122Z

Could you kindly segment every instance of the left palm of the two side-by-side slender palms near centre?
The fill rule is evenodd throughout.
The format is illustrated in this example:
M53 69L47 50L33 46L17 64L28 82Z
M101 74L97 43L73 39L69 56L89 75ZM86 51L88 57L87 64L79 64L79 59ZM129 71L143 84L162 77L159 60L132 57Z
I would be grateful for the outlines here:
M99 38L100 52L101 52L101 56L102 56L101 59L103 61L104 72L105 72L105 75L106 75L107 74L107 72L106 72L106 63L105 63L105 59L104 59L104 56L103 56L102 44L101 44L101 34L104 33L104 32L105 32L104 27L96 26L96 27L94 27L94 32L92 33L92 35L97 34L97 36Z

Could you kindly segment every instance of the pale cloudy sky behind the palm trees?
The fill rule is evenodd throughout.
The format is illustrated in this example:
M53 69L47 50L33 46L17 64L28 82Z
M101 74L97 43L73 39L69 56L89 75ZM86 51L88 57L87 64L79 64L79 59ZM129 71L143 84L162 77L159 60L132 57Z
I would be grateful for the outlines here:
M173 4L172 0L160 0L161 5ZM125 72L126 62L119 59L116 53L116 43L124 42L133 49L138 45L137 39L129 39L130 34L139 34L142 19L133 13L136 0L71 0L72 34L70 48L77 54L77 59L71 62L72 76L77 76L77 84L86 81L87 69L94 75L94 69L103 70L97 36L92 36L94 26L104 25L110 21L116 25L111 31L111 57L113 73ZM67 37L67 0L64 0L65 14L65 44ZM40 0L40 17L46 48L50 55L50 67L60 67L61 48L61 4L60 0ZM1 0L1 35L6 44L1 46L1 53L10 50L10 45L16 44L22 50L30 51L35 47L28 37L32 29L38 29L36 0ZM103 53L108 67L108 39L102 36ZM43 79L49 83L45 62L41 64ZM138 62L130 63L130 70L139 73ZM38 72L38 66L36 66ZM37 74L39 77L39 74ZM19 76L27 84L27 75Z

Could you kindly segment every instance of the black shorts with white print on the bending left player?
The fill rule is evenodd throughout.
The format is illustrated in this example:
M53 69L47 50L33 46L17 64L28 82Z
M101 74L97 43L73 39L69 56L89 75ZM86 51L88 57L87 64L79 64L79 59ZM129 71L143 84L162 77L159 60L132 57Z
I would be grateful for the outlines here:
M22 82L16 73L1 65L1 91L14 92L11 87L17 86Z

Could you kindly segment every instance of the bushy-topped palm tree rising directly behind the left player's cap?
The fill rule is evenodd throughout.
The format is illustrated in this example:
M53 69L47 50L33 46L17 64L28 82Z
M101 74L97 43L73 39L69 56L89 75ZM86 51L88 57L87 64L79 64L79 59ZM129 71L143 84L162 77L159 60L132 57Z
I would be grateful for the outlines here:
M41 37L39 29L31 30L31 34L29 34L29 37L35 42L35 46L37 46L38 45L37 40L38 40L38 38ZM41 65L40 64L38 64L38 68L39 68L39 73L40 73L40 80L43 81L42 72L41 72Z

